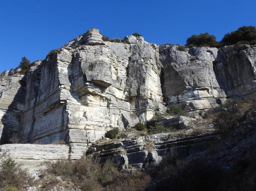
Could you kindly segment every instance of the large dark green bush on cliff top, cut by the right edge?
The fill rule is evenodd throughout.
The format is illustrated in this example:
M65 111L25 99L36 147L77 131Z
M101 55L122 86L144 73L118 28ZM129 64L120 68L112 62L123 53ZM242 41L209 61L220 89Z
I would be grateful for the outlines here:
M256 40L256 27L255 26L242 26L236 31L225 34L222 38L224 45L235 45L239 41L252 42Z

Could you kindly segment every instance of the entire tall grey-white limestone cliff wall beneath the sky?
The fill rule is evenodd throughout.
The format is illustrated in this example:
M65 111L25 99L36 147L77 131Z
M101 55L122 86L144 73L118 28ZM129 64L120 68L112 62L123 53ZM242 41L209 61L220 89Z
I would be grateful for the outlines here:
M147 122L170 104L198 112L256 91L256 46L184 51L142 37L101 37L90 29L27 75L19 68L0 75L2 143L11 132L21 143L65 141L75 158L109 129Z

